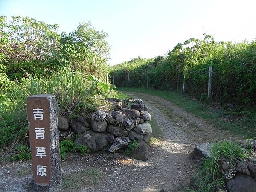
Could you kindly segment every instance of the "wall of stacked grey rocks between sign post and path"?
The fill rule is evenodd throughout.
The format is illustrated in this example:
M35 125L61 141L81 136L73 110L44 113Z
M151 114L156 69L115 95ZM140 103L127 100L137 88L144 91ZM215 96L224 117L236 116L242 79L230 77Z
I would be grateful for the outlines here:
M130 156L146 161L148 159L148 142L152 134L151 115L141 99L134 99L134 105L118 111L97 110L92 114L83 114L68 122L64 117L59 117L61 135L67 134L70 128L78 134L74 143L87 145L90 151L99 151L106 148L113 153L119 148L128 145L132 140L139 143L137 149L132 150Z

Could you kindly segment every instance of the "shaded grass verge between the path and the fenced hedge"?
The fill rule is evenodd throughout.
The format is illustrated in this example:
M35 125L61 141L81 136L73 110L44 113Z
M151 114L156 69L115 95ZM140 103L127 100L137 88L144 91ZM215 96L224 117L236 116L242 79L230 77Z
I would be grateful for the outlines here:
M239 109L218 107L212 109L207 104L201 103L175 91L152 90L145 88L118 88L119 92L130 91L160 96L170 100L175 105L183 108L194 116L206 119L217 128L239 134L245 138L256 137L256 109ZM228 118L228 119L226 119Z

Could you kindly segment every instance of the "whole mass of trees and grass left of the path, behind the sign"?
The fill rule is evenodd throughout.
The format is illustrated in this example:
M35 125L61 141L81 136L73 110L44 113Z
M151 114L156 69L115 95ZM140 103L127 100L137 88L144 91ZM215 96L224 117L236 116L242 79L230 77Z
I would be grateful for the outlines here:
M0 17L0 151L11 160L30 159L26 97L54 94L61 115L70 117L105 104L114 86L105 84L109 45L103 31L79 23L69 34L57 24L29 17ZM71 120L70 119L70 120ZM87 152L71 141L67 151ZM7 154L7 155L6 155Z

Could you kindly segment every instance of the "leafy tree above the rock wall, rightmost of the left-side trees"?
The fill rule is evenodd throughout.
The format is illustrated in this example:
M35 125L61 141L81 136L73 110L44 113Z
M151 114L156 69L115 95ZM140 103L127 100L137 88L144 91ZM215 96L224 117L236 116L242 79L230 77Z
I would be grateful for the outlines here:
M97 31L91 23L79 23L74 32L61 33L62 55L73 68L103 77L109 55L108 34Z

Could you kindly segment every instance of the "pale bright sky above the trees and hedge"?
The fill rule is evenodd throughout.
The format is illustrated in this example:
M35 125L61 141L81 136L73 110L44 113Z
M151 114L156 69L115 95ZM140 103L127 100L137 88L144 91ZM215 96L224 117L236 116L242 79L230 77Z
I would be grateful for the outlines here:
M71 32L92 22L108 33L109 63L164 55L177 43L256 39L255 0L0 0L0 15L29 16Z

